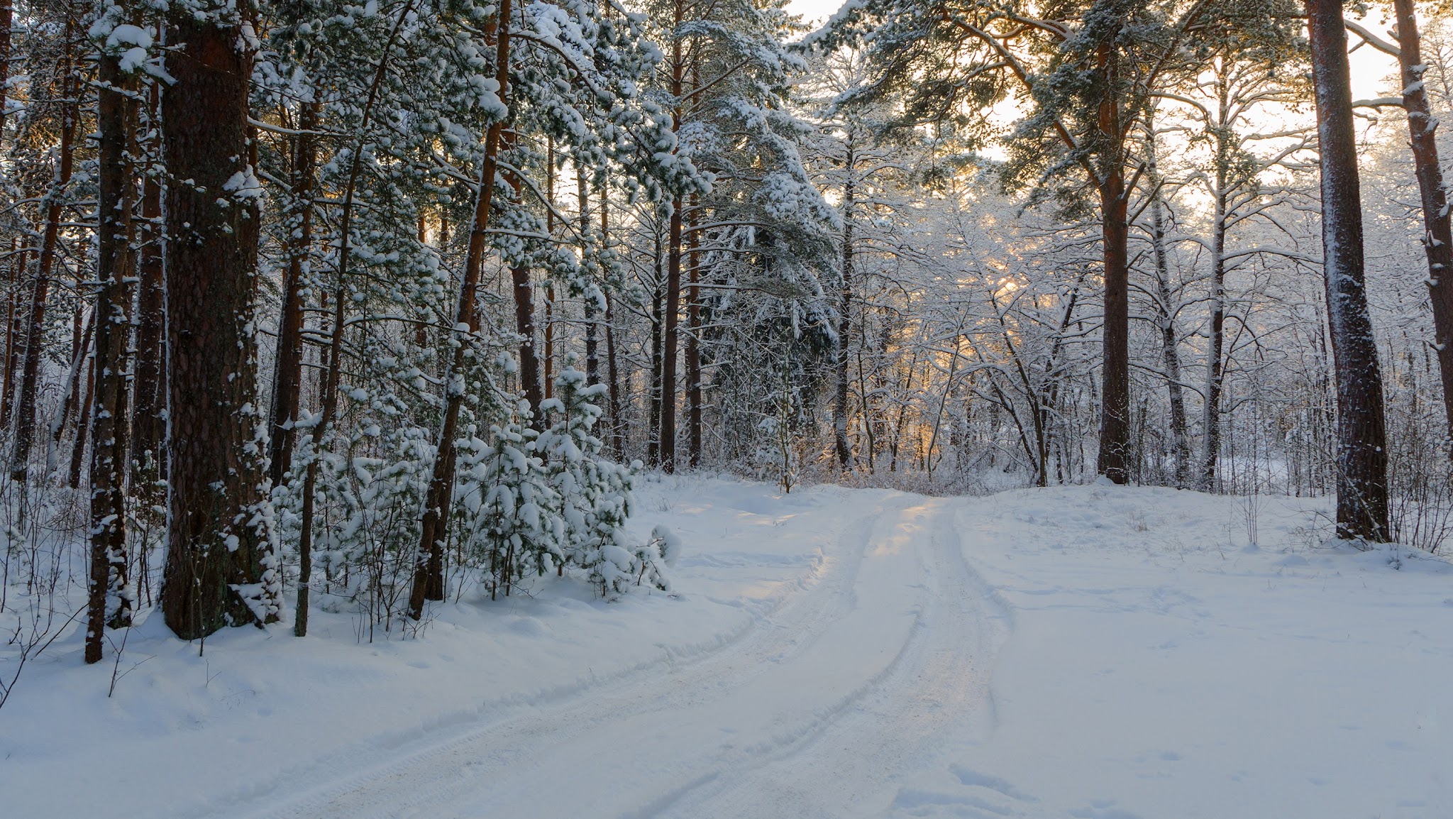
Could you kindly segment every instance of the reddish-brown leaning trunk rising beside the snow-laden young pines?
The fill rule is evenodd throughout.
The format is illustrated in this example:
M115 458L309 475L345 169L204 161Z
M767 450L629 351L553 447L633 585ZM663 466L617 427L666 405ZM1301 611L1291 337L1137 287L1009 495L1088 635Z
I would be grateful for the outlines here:
M498 83L500 102L509 105L510 90L510 1L500 0L500 12L493 20L495 35L494 79ZM479 163L479 189L475 196L474 225L469 230L469 249L465 253L464 276L459 282L459 303L455 308L455 333L459 345L453 348L449 371L445 374L445 415L439 428L439 445L434 454L434 468L424 495L424 514L420 527L418 550L414 557L414 579L408 592L408 615L418 620L424 615L424 599L443 599L443 540L449 525L449 502L453 496L455 435L459 426L459 409L464 404L465 349L479 330L479 311L475 305L479 289L479 272L488 250L490 204L494 199L494 180L500 166L500 137L504 121L491 122L484 135L484 159ZM459 327L465 333L459 333ZM525 362L522 361L522 365ZM536 378L536 384L539 380ZM536 396L538 397L538 396ZM533 404L538 406L538 404ZM532 406L532 409L533 409Z

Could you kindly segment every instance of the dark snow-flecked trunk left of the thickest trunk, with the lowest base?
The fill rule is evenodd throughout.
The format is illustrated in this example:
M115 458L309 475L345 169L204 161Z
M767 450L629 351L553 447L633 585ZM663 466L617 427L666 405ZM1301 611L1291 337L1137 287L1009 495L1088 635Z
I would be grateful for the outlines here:
M97 157L97 256L96 256L96 345L92 358L92 460L90 460L90 611L86 630L86 662L102 659L108 621L131 624L126 595L126 342L131 327L131 214L135 207L131 144L129 95L135 80L121 71L119 60L99 58L100 90L96 122L100 131ZM115 89L115 90L112 90ZM81 442L77 439L77 451ZM109 610L115 604L115 614Z

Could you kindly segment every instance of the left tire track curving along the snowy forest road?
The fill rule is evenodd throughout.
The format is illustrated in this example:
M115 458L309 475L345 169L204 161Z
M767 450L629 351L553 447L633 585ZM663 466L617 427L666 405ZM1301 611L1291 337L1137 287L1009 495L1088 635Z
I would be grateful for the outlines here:
M574 790L571 774L552 768L545 758L552 749L568 748L584 735L609 735L618 726L663 710L699 710L809 650L851 604L865 553L873 543L870 522L881 518L885 508L897 511L911 500L911 496L888 496L879 509L862 518L862 524L844 527L838 540L847 543L838 554L824 556L815 583L782 595L741 634L711 650L684 662L667 658L570 694L501 704L498 710L481 708L472 724L448 736L434 730L397 746L341 754L308 771L241 791L231 804L227 800L214 803L214 815L408 816L434 806L429 810L432 816L481 816L488 815L481 813L481 807L450 812L446 806L478 796L481 788L498 793L511 780L529 778L526 774L536 764L555 770L556 790ZM604 767L610 764L619 759L602 761ZM549 783L545 787L549 788Z

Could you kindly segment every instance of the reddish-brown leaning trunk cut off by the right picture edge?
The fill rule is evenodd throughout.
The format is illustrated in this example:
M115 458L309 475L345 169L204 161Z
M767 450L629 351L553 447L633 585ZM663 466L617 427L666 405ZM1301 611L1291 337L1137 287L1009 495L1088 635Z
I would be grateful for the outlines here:
M1443 166L1438 164L1438 144L1434 138L1437 121L1428 106L1422 84L1427 65L1422 64L1418 16L1412 0L1393 0L1398 16L1398 63L1402 65L1402 108L1408 112L1408 135L1412 164L1422 195L1422 250L1428 257L1428 297L1433 303L1433 326L1443 377L1443 409L1449 436L1453 436L1453 227L1449 218L1447 188Z

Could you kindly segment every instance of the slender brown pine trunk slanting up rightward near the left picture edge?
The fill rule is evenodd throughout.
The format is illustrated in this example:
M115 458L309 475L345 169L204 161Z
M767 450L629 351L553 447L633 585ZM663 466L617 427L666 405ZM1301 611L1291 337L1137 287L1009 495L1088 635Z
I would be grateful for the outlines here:
M71 65L71 22L65 23L65 54L61 58L61 144L58 148L55 182L45 195L45 230L41 237L41 260L36 265L35 282L31 288L31 307L25 332L25 367L20 371L20 387L16 391L13 438L10 450L10 477L25 480L31 461L31 445L35 436L35 399L39 393L41 356L45 352L45 307L51 288L51 271L55 268L55 250L60 243L61 205L74 169L76 143L76 77Z

